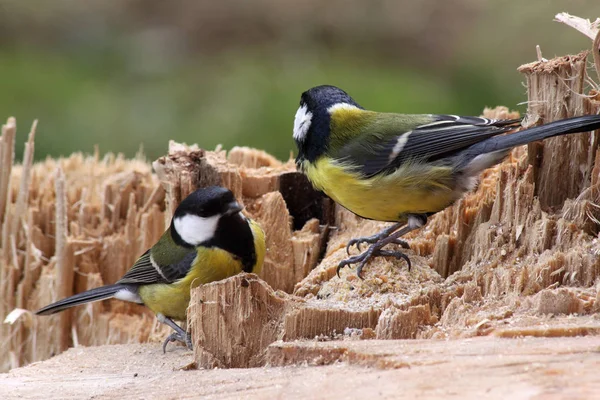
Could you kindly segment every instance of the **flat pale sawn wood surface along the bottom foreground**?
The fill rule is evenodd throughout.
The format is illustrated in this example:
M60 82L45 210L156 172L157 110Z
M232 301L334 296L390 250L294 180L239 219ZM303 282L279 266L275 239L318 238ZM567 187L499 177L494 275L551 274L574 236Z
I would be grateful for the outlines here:
M72 348L0 375L0 398L591 399L599 349L598 336L277 343L269 367L185 370L183 347Z

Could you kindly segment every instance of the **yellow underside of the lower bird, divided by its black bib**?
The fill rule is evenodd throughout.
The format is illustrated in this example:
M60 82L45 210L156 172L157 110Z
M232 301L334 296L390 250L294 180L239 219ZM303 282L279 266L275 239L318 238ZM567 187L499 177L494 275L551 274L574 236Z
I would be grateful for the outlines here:
M265 257L265 236L256 222L250 220L254 234L256 264L252 269L260 273ZM184 321L190 303L190 289L204 283L229 278L242 271L242 263L231 253L218 248L200 248L190 272L172 284L153 284L140 287L139 295L154 313Z

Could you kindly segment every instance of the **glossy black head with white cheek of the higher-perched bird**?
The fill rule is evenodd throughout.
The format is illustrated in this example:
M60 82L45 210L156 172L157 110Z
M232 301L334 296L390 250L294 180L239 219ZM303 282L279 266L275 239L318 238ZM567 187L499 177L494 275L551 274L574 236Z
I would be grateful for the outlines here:
M315 161L329 145L332 107L350 105L362 108L348 93L330 85L316 86L302 93L294 119L294 140L298 146L296 165Z

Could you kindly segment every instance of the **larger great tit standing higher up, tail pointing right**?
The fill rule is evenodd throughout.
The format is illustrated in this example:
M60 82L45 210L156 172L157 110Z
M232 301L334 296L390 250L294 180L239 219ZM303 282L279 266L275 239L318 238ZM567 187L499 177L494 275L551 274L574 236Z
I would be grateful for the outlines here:
M296 165L317 190L356 215L395 222L376 235L348 242L370 247L339 263L337 272L369 259L394 256L390 243L408 248L400 237L461 198L479 174L498 164L513 147L558 135L600 128L600 115L567 118L509 135L520 119L491 120L435 114L368 111L335 86L302 93L294 120Z

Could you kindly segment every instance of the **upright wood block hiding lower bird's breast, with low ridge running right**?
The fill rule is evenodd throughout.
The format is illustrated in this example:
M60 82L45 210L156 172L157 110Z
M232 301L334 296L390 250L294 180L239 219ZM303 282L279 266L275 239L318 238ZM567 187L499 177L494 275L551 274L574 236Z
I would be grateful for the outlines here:
M264 366L277 340L331 338L414 338L418 327L436 321L429 305L406 310L310 302L273 290L255 274L192 289L188 309L196 363L202 368ZM402 326L402 329L398 329Z

